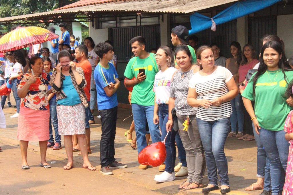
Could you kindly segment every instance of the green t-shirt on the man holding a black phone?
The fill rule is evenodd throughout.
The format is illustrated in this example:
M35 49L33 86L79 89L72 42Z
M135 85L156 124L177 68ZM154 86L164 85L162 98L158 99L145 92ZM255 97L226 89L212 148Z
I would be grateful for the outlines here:
M132 79L137 78L139 69L144 68L146 79L133 86L131 103L137 103L141 106L152 106L155 102L155 93L153 92L155 75L158 72L158 65L156 64L155 54L149 53L149 57L140 59L133 57L128 62L124 76Z

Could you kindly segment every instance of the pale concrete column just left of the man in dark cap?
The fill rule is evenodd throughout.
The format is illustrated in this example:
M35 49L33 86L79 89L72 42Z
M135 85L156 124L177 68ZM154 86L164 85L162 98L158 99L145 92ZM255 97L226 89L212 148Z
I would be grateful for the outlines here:
M170 14L163 14L160 19L161 46L171 46Z

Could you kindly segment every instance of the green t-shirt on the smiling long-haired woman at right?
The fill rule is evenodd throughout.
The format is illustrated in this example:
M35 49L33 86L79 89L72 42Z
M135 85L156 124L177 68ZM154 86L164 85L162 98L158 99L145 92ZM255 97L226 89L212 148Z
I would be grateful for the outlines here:
M280 69L279 69L280 70ZM287 105L285 91L293 78L293 71L285 71L284 74L280 70L267 71L260 75L255 84L255 95L253 95L253 76L249 80L242 96L255 101L255 116L260 127L271 131L284 130L285 120L288 113L292 109Z

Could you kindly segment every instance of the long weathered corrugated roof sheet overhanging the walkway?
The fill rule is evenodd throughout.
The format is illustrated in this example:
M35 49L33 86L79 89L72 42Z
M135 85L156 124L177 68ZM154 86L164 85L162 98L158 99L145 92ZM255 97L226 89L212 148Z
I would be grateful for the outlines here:
M191 13L234 1L238 0L128 0L0 18L0 22L86 12Z

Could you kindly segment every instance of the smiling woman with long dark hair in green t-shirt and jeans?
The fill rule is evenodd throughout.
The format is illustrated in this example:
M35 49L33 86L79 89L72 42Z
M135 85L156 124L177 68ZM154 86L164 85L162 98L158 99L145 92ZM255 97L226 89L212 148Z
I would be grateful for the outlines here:
M260 53L258 71L242 94L244 106L270 159L272 195L280 194L284 186L282 172L286 172L289 151L284 123L292 108L286 103L285 91L293 78L293 71L287 67L282 45L275 41L266 42ZM255 110L251 101L255 101Z

